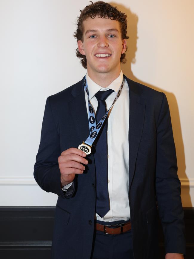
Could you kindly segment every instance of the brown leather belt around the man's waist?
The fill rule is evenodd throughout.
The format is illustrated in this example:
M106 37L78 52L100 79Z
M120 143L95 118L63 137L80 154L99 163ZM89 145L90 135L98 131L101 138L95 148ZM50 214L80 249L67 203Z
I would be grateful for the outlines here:
M96 223L96 230L104 232L104 234L116 235L131 230L131 222L121 223L117 225L102 225Z

